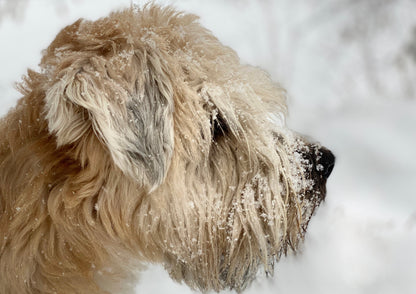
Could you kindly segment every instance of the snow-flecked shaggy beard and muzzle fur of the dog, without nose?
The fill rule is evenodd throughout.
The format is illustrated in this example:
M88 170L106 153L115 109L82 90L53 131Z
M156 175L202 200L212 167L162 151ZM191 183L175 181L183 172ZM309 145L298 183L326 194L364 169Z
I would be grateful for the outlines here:
M310 155L318 145L297 136L276 137L269 152L280 160L271 164L265 160L269 155L252 160L230 142L217 142L208 174L194 166L195 182L190 166L184 167L188 182L179 186L191 188L170 192L186 200L181 208L167 205L165 211L171 223L163 240L165 267L175 280L202 291L241 291L260 268L273 274L280 256L298 248L325 196L325 183L314 173L315 155Z

